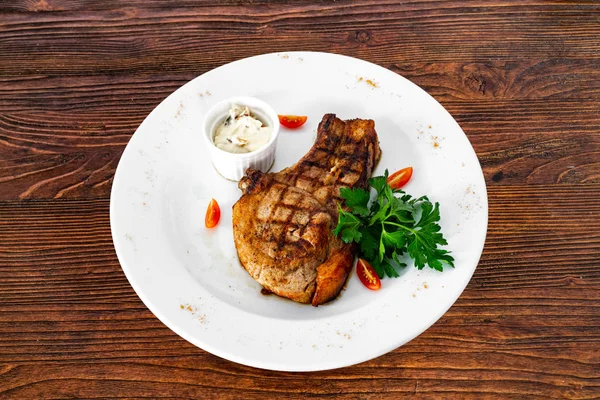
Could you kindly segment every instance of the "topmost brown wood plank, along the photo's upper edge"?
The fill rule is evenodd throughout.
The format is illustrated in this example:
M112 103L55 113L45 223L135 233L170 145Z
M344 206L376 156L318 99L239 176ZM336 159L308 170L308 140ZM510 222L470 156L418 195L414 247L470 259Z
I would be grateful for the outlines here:
M330 51L381 64L597 59L599 11L593 2L468 1L5 11L0 74L199 73L266 49Z

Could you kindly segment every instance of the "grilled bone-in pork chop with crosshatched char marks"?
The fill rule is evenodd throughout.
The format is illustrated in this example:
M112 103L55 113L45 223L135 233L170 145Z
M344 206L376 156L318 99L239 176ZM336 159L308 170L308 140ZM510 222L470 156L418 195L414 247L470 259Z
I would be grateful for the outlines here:
M333 234L340 188L366 189L380 155L372 120L326 114L295 165L270 174L248 169L233 206L233 236L252 278L313 306L337 297L354 261L353 246Z

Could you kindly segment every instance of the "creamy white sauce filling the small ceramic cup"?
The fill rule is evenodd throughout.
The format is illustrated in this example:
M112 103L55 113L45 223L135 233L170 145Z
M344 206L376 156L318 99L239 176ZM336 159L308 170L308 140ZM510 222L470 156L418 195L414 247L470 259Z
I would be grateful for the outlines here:
M272 132L248 107L232 104L229 116L215 129L214 143L230 153L250 153L266 145Z

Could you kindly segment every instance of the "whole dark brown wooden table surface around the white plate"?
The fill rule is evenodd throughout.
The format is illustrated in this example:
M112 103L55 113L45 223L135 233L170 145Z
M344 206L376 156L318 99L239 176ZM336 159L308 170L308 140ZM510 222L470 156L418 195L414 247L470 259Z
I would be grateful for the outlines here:
M0 2L0 398L600 396L600 3L395 3ZM471 140L490 204L479 267L443 318L319 373L179 338L130 287L109 227L121 153L162 99L292 50L428 91Z

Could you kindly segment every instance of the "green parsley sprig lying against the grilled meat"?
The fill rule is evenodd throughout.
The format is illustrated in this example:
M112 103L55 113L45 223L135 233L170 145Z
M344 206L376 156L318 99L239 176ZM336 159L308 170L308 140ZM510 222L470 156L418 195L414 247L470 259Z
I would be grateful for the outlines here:
M425 265L438 271L454 258L439 246L447 245L440 232L440 205L427 196L413 198L387 183L384 176L369 180L377 196L371 200L368 191L342 188L340 195L348 211L338 204L339 218L335 234L345 243L358 243L359 256L367 260L380 278L397 277L398 268L406 267L402 256L407 253L415 267Z

